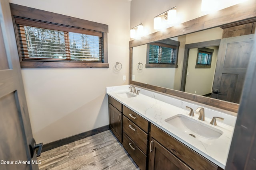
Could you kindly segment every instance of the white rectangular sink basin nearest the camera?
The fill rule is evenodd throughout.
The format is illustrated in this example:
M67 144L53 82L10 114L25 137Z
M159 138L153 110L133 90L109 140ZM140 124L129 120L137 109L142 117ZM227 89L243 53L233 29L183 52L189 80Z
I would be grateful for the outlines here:
M211 125L207 125L200 122L200 120L195 120L182 114L175 115L164 121L207 144L212 143L212 139L217 139L223 134L221 130Z

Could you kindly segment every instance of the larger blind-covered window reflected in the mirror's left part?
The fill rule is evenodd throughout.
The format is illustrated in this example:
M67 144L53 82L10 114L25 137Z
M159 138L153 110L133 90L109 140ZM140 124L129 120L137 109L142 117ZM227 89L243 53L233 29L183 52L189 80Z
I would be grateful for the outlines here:
M178 41L170 39L148 44L146 67L178 67L179 45Z

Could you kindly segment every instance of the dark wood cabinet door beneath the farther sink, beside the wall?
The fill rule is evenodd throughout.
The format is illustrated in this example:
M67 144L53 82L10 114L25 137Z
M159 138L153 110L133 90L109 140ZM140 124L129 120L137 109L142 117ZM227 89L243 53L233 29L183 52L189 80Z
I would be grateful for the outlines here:
M122 113L111 104L108 104L108 113L110 130L122 143Z

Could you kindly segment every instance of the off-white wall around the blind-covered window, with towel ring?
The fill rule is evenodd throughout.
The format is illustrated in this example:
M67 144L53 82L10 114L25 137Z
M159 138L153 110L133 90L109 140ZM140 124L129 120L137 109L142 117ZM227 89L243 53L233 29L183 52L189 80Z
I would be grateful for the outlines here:
M32 131L50 143L108 125L107 86L128 84L129 0L9 0L10 3L107 24L110 68L22 69ZM116 62L122 70L116 71ZM126 81L123 81L126 75Z

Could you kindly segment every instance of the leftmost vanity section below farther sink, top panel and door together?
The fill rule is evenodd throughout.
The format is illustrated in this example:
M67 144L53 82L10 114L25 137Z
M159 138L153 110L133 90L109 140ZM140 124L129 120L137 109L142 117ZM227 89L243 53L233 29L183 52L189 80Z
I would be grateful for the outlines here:
M108 96L109 129L122 143L122 104Z

